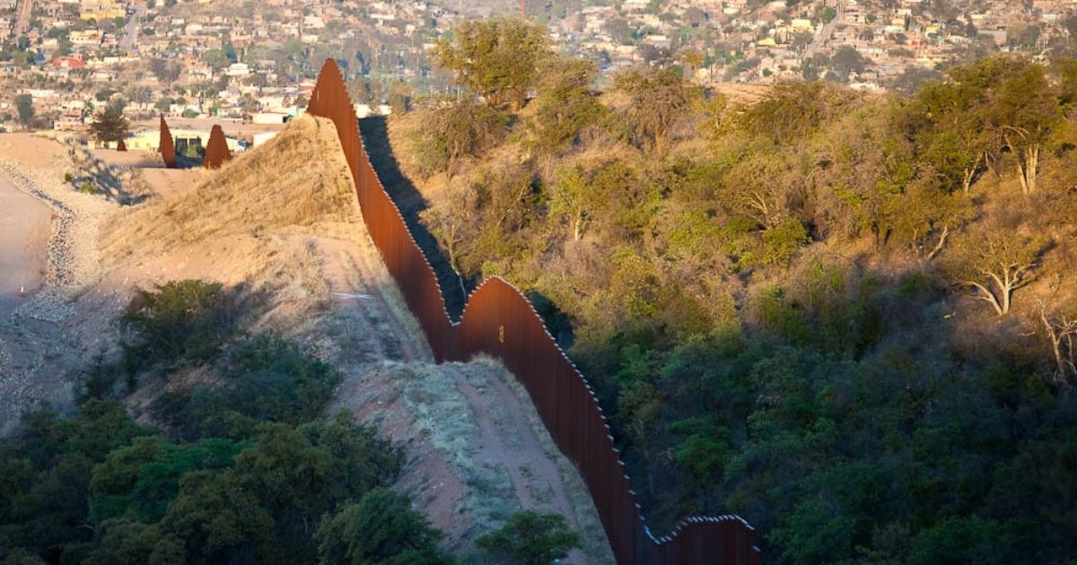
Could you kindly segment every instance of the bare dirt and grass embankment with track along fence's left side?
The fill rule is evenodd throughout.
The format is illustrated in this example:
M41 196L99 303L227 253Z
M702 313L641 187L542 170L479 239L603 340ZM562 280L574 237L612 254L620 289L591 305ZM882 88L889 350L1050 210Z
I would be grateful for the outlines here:
M375 421L405 446L397 488L448 547L468 553L479 535L533 508L581 532L585 549L572 562L613 562L582 479L513 377L490 361L434 364L362 223L332 124L296 119L220 171L191 175L190 186L153 188L108 216L93 235L97 277L67 295L71 313L54 325L70 339L31 349L64 351L71 365L113 358L115 319L136 287L204 279L240 288L256 298L247 330L307 344L346 378L331 410ZM69 397L61 391L76 373L41 380L37 397Z

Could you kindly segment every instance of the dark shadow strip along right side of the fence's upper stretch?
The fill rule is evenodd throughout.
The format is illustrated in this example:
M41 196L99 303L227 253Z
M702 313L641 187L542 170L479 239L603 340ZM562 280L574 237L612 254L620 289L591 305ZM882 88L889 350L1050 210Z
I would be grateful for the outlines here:
M411 231L411 237L426 255L430 266L434 268L437 282L442 286L445 308L448 310L449 317L452 321L460 320L467 297L464 296L464 292L460 287L460 278L449 265L448 257L442 253L437 239L419 221L419 214L429 204L415 184L400 169L392 145L389 143L389 126L386 116L369 116L360 119L359 130L363 136L363 144L366 146L370 165L374 166L374 170L378 171L382 186L396 203L401 214L404 215L404 222L407 224L408 230ZM468 284L468 281L464 281L464 285L467 292L473 289L473 285Z

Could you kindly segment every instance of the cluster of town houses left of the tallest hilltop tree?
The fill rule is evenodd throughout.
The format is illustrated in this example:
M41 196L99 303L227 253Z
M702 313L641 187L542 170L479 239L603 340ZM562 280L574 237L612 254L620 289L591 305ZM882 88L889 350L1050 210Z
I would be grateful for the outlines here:
M410 80L460 17L423 0L33 0L18 33L25 1L0 0L0 128L18 127L24 95L39 128L85 128L111 104L132 118L281 124L305 107L324 57L362 52L367 75ZM361 114L388 111L363 102Z

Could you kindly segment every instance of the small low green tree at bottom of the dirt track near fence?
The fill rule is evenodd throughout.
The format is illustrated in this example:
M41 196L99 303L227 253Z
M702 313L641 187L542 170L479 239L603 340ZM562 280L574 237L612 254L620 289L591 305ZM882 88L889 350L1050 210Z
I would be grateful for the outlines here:
M548 565L579 547L579 535L569 529L564 517L523 510L508 517L500 529L484 534L475 545L505 563Z

